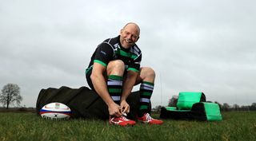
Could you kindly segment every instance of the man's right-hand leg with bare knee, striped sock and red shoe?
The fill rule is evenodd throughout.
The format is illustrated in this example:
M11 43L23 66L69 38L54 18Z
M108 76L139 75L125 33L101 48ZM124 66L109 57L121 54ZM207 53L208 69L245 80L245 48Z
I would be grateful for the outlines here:
M142 67L140 75L137 79L137 84L141 83L140 86L140 107L138 111L138 120L144 123L150 124L162 124L162 120L153 119L149 115L150 98L154 90L154 79L155 72L153 69L148 67Z

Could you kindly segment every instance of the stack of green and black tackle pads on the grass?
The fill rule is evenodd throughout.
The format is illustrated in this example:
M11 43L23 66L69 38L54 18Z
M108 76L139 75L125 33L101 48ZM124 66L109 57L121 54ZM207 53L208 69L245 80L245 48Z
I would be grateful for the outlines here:
M180 92L177 107L161 108L162 119L222 120L218 104L207 103L203 92Z

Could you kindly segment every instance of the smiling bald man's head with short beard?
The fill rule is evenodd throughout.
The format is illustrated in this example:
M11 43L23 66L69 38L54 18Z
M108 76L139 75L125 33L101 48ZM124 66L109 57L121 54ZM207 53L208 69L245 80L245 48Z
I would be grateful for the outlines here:
M128 49L134 45L139 38L140 29L133 22L127 23L120 31L120 43L122 47Z

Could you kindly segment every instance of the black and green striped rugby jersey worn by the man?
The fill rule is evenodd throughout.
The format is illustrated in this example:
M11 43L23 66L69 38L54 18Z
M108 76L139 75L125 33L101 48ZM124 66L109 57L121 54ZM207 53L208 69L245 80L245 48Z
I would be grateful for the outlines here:
M130 49L123 48L120 43L120 36L106 39L94 51L86 73L92 70L94 62L106 66L114 60L122 60L127 71L138 72L142 61L142 52L137 45L133 45Z

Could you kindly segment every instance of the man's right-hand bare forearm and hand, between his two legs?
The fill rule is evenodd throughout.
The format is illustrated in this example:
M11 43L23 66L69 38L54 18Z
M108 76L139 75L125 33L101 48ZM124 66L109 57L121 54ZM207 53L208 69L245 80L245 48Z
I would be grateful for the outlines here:
M123 81L122 86L122 97L121 97L121 108L122 112L129 113L130 106L127 104L126 99L130 95L130 92L134 88L134 84L138 77L138 72L128 71L126 74L126 79Z

